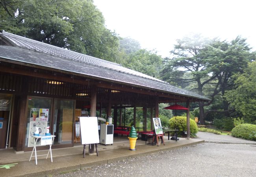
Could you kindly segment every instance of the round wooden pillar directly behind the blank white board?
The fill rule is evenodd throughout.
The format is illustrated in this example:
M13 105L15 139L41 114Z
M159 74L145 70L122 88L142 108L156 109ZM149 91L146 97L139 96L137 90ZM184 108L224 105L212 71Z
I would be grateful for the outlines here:
M90 116L96 117L96 100L97 100L97 87L93 86L91 88L91 109ZM89 146L89 153L94 153L94 144Z

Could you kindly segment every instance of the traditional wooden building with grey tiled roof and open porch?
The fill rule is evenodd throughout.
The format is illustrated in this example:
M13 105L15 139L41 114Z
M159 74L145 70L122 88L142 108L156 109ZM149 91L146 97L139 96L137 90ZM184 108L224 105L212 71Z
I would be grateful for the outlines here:
M32 124L53 127L54 146L68 147L79 139L73 123L81 112L113 116L113 125L118 127L125 125L125 107L134 107L134 111L143 107L151 110L152 128L158 103L186 102L189 106L189 102L210 100L119 64L4 30L0 33L0 73L0 100L8 102L6 138L0 148L14 147L16 151L32 150ZM39 110L34 119L33 110ZM147 121L138 122L135 113L128 124L143 131L150 127Z

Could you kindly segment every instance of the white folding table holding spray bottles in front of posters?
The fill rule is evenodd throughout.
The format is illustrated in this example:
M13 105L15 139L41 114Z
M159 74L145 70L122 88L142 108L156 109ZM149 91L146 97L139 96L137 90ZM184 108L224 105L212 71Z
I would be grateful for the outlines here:
M47 155L46 156L46 159L49 155L49 152L50 152L50 155L51 155L51 162L52 162L52 143L54 141L54 137L55 135L48 135L48 136L32 136L33 139L34 139L34 147L33 147L33 151L31 153L31 156L30 156L30 159L29 161L31 160L32 157L35 157L35 164L37 165L37 156L44 156L44 155ZM37 155L37 148L36 148L36 143L37 141L41 138L41 144L40 145L37 145L37 146L45 146L45 145L49 145L49 151L47 154L44 154L44 155ZM33 152L35 152L35 155L33 155Z

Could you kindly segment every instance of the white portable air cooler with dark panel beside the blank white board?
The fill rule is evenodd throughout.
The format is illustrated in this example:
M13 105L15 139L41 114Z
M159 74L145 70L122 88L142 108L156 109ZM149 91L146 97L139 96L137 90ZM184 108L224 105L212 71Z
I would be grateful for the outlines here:
M100 124L100 143L113 145L114 125Z

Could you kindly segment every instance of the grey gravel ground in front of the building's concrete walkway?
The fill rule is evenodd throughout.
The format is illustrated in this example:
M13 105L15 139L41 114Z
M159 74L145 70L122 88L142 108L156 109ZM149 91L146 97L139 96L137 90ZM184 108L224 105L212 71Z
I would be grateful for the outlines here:
M225 135L214 135L219 140ZM200 132L202 136L206 133ZM210 135L211 136L211 135ZM230 136L231 137L231 136ZM224 137L228 138L228 137ZM233 138L233 137L231 137ZM207 139L207 138L206 138ZM170 151L162 151L142 157L129 158L111 164L57 175L108 176L108 177L148 177L148 176L256 176L256 144L234 144L205 142ZM246 140L245 140L246 141ZM241 144L240 144L241 143ZM254 142L255 143L255 142Z

